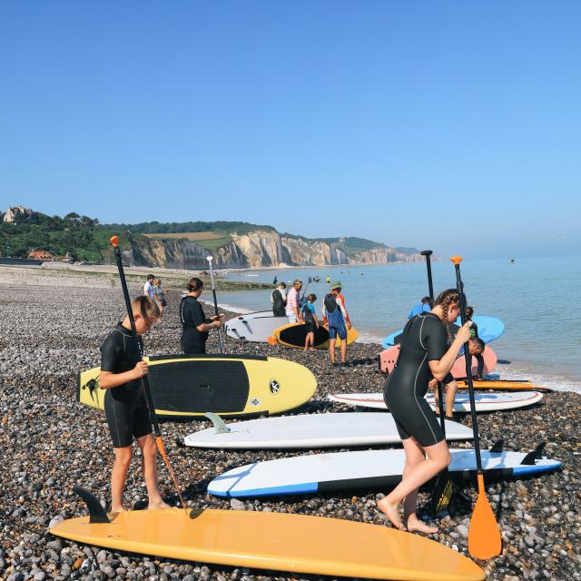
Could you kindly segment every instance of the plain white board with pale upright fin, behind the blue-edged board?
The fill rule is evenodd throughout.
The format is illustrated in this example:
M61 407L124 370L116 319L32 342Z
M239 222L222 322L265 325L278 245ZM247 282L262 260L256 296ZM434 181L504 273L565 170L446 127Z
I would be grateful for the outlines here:
M448 440L472 439L472 428L446 420ZM399 444L391 414L330 413L251 419L202 429L183 438L194 448L329 448Z

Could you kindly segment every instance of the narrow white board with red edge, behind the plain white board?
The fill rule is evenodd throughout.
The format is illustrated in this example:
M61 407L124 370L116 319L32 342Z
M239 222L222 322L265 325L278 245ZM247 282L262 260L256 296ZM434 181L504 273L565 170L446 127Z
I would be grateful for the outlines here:
M330 395L331 401L338 401L358 408L388 409L383 401L383 393L340 393ZM434 395L426 396L428 403L435 408ZM517 393L475 393L477 411L494 411L498 409L516 409L532 406L543 399L538 391L519 391ZM454 399L456 413L470 413L468 393L457 393Z

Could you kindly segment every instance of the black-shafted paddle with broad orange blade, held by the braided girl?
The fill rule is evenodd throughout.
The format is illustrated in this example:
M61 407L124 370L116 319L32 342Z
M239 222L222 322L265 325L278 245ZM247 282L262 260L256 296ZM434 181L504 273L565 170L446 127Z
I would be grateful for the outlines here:
M461 256L452 256L450 261L456 268L456 286L460 297L460 318L462 324L466 323L466 297L464 296L464 284L460 276ZM478 559L489 559L500 554L502 550L502 539L497 525L497 519L492 512L492 507L488 502L486 490L484 488L484 475L482 473L482 460L480 458L480 440L478 438L478 419L476 416L476 404L474 402L474 384L470 369L470 353L468 341L464 346L464 357L466 359L466 379L468 381L468 394L470 397L470 414L472 416L472 429L474 431L474 451L476 453L478 498L476 506L472 512L472 519L468 527L468 552Z

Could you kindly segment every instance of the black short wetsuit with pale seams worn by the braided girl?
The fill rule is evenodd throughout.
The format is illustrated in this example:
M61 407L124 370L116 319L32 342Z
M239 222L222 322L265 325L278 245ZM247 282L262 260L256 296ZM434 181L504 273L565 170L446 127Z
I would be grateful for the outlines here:
M432 378L428 361L441 359L448 336L437 315L423 312L404 329L398 364L389 374L383 397L401 439L416 438L420 446L444 439L436 414L424 398Z

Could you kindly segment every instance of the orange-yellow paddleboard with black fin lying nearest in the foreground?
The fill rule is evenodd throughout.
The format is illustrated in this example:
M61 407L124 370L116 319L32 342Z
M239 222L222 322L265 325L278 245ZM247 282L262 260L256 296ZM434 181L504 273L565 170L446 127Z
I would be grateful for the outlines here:
M64 520L53 535L170 559L314 575L471 581L484 571L419 535L349 520L236 510L133 510Z

